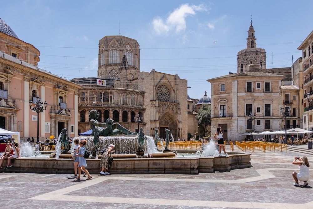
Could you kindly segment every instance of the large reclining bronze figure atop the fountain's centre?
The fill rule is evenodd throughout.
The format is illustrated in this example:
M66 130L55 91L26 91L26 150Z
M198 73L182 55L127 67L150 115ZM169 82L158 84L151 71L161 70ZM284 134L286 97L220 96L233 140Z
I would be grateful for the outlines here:
M98 128L100 136L113 136L119 133L124 133L125 135L137 135L137 133L127 130L119 123L114 123L114 120L112 120L111 118L106 119L105 123L99 123L97 121L98 115L95 109L90 110L89 115L89 124L90 128L92 129L92 133L90 134L90 136L93 136L95 134L95 127Z

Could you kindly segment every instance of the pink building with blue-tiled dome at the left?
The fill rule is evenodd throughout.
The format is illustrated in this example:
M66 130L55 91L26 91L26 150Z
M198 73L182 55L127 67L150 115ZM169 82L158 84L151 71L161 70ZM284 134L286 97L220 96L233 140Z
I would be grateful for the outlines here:
M57 138L64 128L69 137L78 136L81 86L39 69L39 55L0 18L0 128L20 132L20 138L36 138L39 120L39 139ZM37 96L47 102L39 118L29 107Z

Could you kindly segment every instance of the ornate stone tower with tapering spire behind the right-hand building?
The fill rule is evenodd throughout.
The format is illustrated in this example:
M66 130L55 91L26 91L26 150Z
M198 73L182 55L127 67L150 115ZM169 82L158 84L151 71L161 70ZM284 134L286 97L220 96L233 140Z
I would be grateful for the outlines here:
M247 48L238 52L237 72L259 72L266 69L266 52L256 47L252 20L248 30Z

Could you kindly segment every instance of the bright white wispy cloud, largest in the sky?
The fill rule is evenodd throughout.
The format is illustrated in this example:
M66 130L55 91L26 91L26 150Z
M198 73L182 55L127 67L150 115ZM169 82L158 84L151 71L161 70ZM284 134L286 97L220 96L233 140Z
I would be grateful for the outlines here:
M154 18L153 29L157 34L167 33L170 30L175 30L176 33L185 31L187 16L195 15L197 11L207 11L207 8L203 4L198 6L183 4L168 15L165 23L160 17Z

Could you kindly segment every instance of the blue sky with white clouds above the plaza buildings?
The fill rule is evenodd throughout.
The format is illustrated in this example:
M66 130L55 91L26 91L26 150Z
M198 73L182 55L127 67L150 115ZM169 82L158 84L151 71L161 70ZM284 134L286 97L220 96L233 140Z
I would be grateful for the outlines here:
M205 91L211 97L208 79L237 72L251 20L267 68L290 67L313 30L312 7L311 0L16 0L1 2L0 18L55 75L97 77L99 40L121 34L139 43L140 71L177 74L200 99Z

